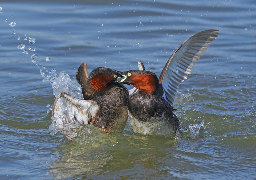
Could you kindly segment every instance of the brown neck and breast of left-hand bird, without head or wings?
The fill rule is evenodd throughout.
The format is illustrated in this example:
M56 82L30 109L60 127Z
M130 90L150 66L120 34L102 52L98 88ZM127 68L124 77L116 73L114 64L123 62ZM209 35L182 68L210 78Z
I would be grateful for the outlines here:
M128 99L129 93L124 86L110 83L103 94L94 94L92 100L97 102L99 111L89 123L101 128L103 133L123 132L128 118Z

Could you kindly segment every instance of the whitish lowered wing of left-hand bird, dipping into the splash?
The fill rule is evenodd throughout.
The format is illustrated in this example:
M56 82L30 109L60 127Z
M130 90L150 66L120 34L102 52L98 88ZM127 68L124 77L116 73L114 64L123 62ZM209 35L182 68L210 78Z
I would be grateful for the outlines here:
M99 107L93 100L75 98L61 92L53 103L52 116L56 124L88 124L98 112ZM65 137L72 140L67 134Z

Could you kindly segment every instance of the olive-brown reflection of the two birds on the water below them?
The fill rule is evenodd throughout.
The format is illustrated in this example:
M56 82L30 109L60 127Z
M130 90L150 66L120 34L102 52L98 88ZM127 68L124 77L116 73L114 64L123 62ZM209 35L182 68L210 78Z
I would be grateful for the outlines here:
M150 169L154 167L156 159L165 156L162 149L175 144L174 139L164 136L102 134L95 127L90 133L83 133L73 141L65 141L63 146L55 150L63 153L49 168L55 179L75 175L90 177L104 171L126 171L136 168L137 163L143 165L148 161L151 163L145 168Z

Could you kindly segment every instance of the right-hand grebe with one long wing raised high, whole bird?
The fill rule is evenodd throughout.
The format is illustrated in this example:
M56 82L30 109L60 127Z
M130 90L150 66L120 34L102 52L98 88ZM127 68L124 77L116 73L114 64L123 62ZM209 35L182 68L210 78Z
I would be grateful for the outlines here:
M119 82L133 85L135 92L129 99L128 114L132 129L140 134L176 134L180 122L173 113L173 97L181 82L191 74L194 63L203 55L210 42L217 37L218 30L205 30L188 38L169 58L159 77L145 71L138 61L140 70L119 72L125 78Z

